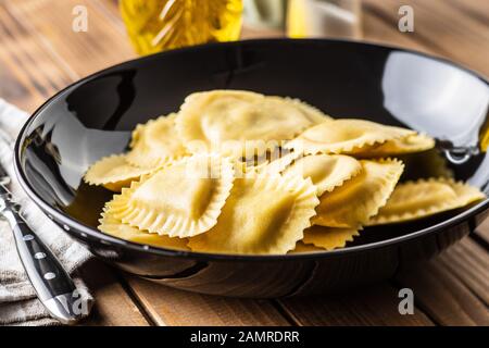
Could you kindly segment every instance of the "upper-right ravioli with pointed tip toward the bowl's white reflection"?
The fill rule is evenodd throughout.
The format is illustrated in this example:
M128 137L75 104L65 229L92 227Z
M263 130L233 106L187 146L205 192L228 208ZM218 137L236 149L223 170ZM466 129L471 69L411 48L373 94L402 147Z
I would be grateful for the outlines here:
M286 144L285 147L311 154L352 154L361 151L360 149L365 146L371 147L415 134L416 132L411 129L385 126L371 121L342 119L313 126Z

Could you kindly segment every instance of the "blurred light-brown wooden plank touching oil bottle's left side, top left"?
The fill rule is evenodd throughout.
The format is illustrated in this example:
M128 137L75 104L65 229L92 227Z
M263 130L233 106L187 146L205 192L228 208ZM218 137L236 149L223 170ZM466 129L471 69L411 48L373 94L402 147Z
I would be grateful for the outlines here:
M113 25L106 12L100 11L99 0L24 0L5 5L23 24L29 35L40 37L51 53L60 58L78 76L135 58L128 39ZM88 30L72 29L73 9L85 5Z

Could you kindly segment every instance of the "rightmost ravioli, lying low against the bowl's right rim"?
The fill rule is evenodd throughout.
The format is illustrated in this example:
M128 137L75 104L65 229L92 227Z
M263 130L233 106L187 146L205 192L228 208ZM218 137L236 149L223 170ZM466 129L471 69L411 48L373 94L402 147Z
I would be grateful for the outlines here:
M450 178L430 178L399 184L368 225L405 222L462 208L486 196L475 187Z

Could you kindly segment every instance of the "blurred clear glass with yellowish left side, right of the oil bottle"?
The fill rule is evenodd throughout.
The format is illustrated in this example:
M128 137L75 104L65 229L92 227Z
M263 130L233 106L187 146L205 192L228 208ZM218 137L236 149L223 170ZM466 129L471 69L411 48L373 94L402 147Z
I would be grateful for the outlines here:
M362 37L359 0L289 0L289 37Z

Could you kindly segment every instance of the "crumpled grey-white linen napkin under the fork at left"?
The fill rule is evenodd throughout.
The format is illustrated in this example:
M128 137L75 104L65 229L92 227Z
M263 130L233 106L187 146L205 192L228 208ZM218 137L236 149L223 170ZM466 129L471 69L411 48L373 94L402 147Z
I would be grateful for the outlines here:
M87 249L63 233L24 194L13 170L13 142L28 114L0 99L0 162L12 182L10 190L23 207L24 217L68 271L82 298L92 300L77 271L91 258ZM57 325L36 298L18 259L9 224L0 221L0 326Z

